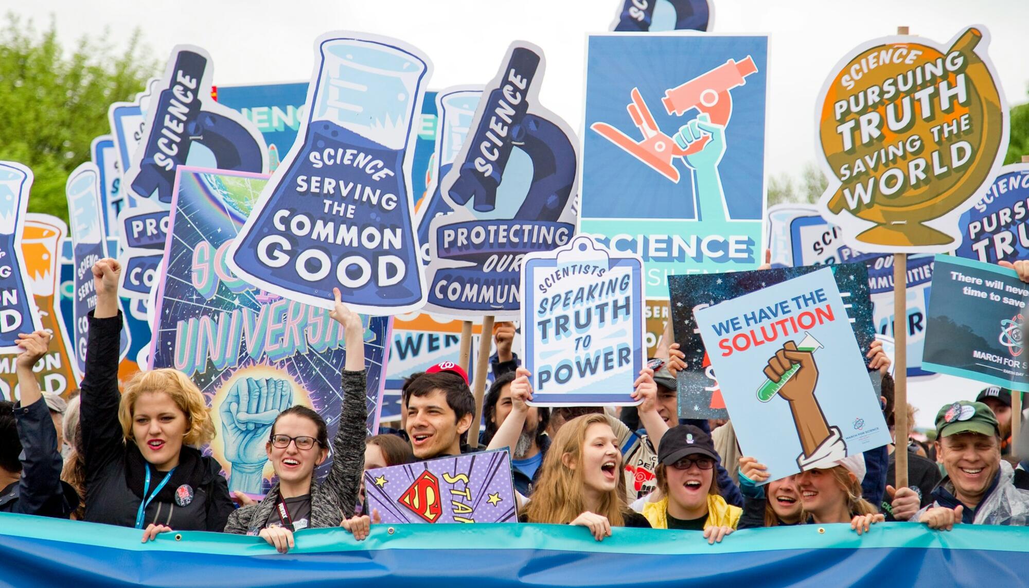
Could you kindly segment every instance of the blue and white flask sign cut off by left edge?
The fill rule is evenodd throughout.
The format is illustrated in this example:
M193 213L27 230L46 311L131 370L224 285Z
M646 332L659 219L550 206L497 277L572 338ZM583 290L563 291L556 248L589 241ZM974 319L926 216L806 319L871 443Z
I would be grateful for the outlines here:
M32 171L0 161L0 353L21 353L19 333L41 329L22 258L22 225Z

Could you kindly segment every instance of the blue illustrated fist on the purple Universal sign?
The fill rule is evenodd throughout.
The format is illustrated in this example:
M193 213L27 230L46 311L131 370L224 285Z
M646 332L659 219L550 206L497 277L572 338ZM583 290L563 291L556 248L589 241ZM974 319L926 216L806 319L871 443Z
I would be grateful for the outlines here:
M281 378L238 379L221 403L225 458L233 469L230 491L260 493L261 471L268 463L264 444L280 412L293 405L293 389Z

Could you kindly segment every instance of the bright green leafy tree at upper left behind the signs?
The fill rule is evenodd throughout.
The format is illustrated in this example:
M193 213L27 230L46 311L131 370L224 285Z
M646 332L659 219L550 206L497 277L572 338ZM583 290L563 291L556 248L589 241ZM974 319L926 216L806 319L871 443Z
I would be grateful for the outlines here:
M119 54L88 37L68 52L52 21L37 32L32 21L7 14L0 31L0 159L32 170L30 211L67 221L65 182L90 159L93 139L110 133L108 105L135 97L156 68L138 30Z

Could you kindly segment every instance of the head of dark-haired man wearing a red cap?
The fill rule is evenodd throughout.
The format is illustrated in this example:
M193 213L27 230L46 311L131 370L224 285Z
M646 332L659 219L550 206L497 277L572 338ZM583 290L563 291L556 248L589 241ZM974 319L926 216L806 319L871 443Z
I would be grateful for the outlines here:
M419 461L469 452L462 436L471 427L475 399L459 366L443 362L427 369L404 389L404 430Z

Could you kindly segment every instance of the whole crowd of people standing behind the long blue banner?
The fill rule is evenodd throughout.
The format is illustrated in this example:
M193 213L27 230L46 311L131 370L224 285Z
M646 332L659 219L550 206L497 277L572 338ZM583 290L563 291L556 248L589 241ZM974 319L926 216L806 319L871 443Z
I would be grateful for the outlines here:
M1029 278L1027 270L1020 273ZM1013 413L1009 391L987 388L974 401L942 407L931 444L901 439L770 480L762 464L739 454L732 421L679 418L675 378L687 366L676 344L640 372L637 407L547 409L528 404L531 374L511 352L513 325L502 324L481 434L467 374L440 364L405 380L400 429L366 438L363 327L339 291L330 316L348 353L338 433L329 440L323 416L306 406L281 410L263 440L277 481L254 503L232 495L221 466L201 451L215 428L184 374L142 371L119 390L119 272L113 259L93 268L97 305L72 402L42 394L32 371L49 335L21 335L20 403L0 402L0 512L135 527L143 542L172 529L245 534L284 553L304 528L368 536L380 519L365 505L366 469L506 448L519 520L582 526L596 541L617 526L697 530L716 543L739 528L810 523L849 523L861 535L882 521L941 530L1029 522L1029 463L1010 457L1012 421L1022 415ZM878 342L866 357L882 373L892 430L889 359ZM909 452L909 483L896 487L898 450ZM330 454L327 475L316 479Z

